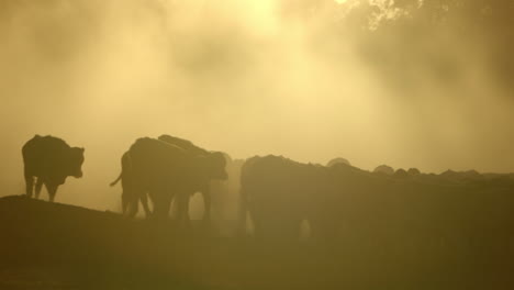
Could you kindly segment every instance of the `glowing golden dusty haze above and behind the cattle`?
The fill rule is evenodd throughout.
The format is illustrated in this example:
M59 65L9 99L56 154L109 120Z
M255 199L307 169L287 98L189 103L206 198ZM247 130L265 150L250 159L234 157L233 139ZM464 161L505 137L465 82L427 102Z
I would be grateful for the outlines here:
M514 171L512 92L484 68L487 43L435 31L423 62L377 68L362 53L377 47L337 26L359 1L317 2L0 0L1 194L24 191L34 134L86 147L83 179L58 201L110 209L122 153L164 133L234 158ZM446 85L423 66L438 52L459 70ZM413 89L392 86L406 69Z

